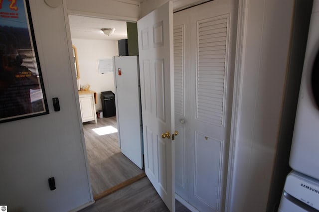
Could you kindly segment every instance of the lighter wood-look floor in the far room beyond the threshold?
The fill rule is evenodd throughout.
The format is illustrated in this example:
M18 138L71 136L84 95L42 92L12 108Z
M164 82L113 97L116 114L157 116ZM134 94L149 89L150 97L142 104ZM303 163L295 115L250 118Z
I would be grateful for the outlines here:
M83 123L93 196L144 172L121 153L118 133L98 135L100 127L117 128L116 116Z

